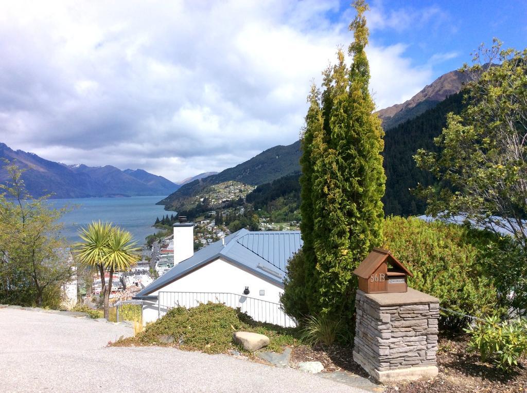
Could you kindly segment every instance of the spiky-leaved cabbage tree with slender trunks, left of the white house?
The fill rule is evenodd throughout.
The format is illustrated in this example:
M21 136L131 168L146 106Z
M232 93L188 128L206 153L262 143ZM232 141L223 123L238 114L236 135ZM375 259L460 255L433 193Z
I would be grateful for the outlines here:
M112 293L112 280L115 271L129 270L139 260L138 249L129 231L113 226L111 223L93 221L79 233L83 240L75 244L81 263L96 269L101 275L104 297L104 318L109 318L109 302ZM108 283L104 274L109 272Z

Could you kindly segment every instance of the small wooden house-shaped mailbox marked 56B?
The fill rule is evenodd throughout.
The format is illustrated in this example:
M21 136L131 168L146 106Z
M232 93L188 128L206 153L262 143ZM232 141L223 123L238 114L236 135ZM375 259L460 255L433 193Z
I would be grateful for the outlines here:
M359 278L359 289L367 294L406 292L408 276L412 276L390 251L374 247L353 271Z

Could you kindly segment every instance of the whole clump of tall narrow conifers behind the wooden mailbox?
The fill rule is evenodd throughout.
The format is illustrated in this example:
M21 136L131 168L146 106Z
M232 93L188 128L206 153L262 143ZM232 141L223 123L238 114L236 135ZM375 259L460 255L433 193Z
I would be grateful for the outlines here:
M311 315L342 320L346 330L352 328L357 287L352 271L380 242L386 179L380 155L384 133L372 114L364 52L368 7L364 0L354 7L351 67L339 50L337 63L324 72L320 100L316 88L311 90L301 180L306 298L300 301L306 301Z

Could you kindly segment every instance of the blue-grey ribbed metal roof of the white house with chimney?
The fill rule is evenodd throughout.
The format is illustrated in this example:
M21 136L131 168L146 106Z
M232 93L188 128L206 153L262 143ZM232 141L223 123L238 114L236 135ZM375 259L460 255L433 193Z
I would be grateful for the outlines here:
M221 257L280 286L284 285L288 259L302 246L300 231L261 231L247 229L218 240L167 271L134 298L144 298L172 281Z

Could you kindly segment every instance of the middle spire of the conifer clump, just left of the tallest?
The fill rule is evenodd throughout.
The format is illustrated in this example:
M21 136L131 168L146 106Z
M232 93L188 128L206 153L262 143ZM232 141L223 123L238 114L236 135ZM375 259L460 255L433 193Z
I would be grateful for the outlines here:
M317 304L310 307L311 313L340 317L348 303L344 298L350 281L348 200L345 178L346 167L352 163L344 161L345 135L348 120L348 69L344 53L338 51L338 62L331 74L331 89L325 96L329 122L326 128L314 137L312 159L313 206L314 206L314 250L317 260L314 276L317 287L313 294ZM325 80L325 84L328 84ZM330 105L327 105L329 101ZM313 274L313 273L311 273Z

